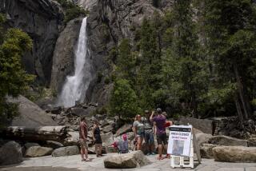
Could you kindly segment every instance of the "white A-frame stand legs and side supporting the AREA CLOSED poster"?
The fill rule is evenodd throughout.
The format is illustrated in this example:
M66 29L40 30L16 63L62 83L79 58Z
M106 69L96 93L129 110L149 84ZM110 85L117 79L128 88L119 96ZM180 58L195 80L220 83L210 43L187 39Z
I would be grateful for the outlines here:
M194 148L197 153L198 162L201 163L201 155L198 147L198 143L196 137L194 135L194 131L192 129L191 143L190 143L190 162L189 164L185 164L184 158L182 156L174 156L170 155L170 167L171 168L191 168L194 169ZM175 158L179 158L179 163L175 164Z

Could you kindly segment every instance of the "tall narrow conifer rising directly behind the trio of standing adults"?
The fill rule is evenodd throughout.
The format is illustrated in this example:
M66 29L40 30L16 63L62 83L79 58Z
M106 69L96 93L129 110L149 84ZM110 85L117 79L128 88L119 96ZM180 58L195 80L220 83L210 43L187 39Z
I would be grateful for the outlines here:
M162 70L161 59L161 39L158 37L161 23L158 13L154 13L152 21L144 19L141 27L140 50L141 56L138 58L138 74L136 78L136 86L138 97L141 99L140 105L142 109L154 109L160 104L154 98L154 90L161 88ZM156 97L156 96L155 96Z

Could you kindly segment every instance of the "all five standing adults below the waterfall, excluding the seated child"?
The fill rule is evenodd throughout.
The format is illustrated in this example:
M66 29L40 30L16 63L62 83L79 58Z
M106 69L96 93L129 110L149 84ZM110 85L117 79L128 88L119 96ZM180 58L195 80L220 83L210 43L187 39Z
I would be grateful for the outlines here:
M145 140L147 155L155 155L154 153L154 135L158 141L158 160L163 158L170 158L170 155L166 154L166 157L162 157L162 153L167 149L167 136L166 127L172 125L171 121L166 121L166 114L162 113L162 109L158 108L156 111L150 113L145 111L145 116L136 115L133 124L133 131L135 134L135 146L137 150L142 150L142 142ZM86 124L86 117L82 117L79 125L79 144L81 147L82 161L91 161L88 157L88 127ZM97 157L102 157L102 138L101 131L98 127L98 121L94 121L93 141L95 144L95 153Z

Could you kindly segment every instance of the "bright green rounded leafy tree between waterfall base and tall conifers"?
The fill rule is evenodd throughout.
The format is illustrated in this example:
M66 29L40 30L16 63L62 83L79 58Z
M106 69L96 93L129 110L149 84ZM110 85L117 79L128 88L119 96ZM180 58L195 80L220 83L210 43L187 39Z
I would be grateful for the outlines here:
M119 117L134 117L140 113L138 97L131 88L130 83L125 79L118 79L114 83L111 93L110 113Z

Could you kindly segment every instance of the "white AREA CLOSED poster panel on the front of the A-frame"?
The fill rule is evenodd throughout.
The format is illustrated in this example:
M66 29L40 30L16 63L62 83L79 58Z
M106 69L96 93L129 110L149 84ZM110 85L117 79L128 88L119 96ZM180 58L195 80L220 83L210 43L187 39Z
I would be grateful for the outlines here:
M190 157L192 125L172 125L168 142L168 153Z

